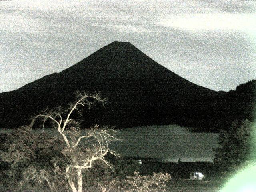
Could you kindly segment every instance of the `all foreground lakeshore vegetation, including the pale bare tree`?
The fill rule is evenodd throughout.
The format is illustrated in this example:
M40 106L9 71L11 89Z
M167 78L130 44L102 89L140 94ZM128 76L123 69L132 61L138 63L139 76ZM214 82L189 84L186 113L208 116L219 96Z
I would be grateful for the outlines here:
M254 122L232 122L220 133L214 163L122 158L108 147L118 140L112 128L97 124L81 132L75 112L105 103L100 95L78 94L69 108L44 111L29 126L0 135L0 190L33 192L217 191L231 174L255 160ZM78 113L79 114L79 113ZM81 114L81 113L80 113ZM56 134L32 132L52 122ZM190 181L202 172L204 181Z

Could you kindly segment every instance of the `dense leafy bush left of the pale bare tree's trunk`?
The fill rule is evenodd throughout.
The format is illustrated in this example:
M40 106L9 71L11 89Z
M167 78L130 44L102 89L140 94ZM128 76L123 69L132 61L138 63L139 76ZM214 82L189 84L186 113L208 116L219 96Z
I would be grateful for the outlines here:
M58 175L58 165L53 163L56 159L64 159L63 144L57 137L44 132L33 133L29 127L12 130L0 151L2 161L8 163L4 171L6 188L39 190L48 188L47 180L63 181L64 177Z

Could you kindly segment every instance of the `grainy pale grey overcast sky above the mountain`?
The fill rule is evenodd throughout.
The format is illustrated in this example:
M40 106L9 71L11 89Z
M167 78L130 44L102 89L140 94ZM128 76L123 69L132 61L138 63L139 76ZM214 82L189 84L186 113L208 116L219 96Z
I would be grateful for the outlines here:
M115 40L191 82L256 78L256 1L0 1L0 92L60 72Z

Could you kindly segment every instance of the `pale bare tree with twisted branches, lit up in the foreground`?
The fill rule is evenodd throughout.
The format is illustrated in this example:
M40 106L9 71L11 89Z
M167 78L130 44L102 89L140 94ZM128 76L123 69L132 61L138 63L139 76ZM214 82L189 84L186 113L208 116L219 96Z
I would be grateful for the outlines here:
M64 154L68 162L64 174L72 192L82 192L82 170L92 168L93 162L96 160L104 162L111 168L110 164L104 159L104 156L108 153L116 156L108 146L108 143L112 140L118 140L114 136L115 132L113 129L99 128L96 125L90 130L85 130L82 134L80 123L71 118L75 111L81 113L84 106L90 108L96 101L103 104L106 103L106 99L101 98L99 94L78 93L77 101L70 105L66 115L63 115L60 109L53 112L44 111L42 114L37 115L30 124L32 129L34 122L38 118L42 118L44 123L46 120L53 122L53 128L57 130L58 135L65 142L62 154ZM44 126L44 123L42 126ZM43 176L42 178L45 178L51 191L53 191L52 184L46 178L46 174L43 174Z

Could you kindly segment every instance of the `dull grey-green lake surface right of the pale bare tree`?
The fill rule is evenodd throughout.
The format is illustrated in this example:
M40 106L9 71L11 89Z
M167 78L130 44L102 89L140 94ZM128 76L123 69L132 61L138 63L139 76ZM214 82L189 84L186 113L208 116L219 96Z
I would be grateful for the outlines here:
M213 148L219 147L218 134L190 132L176 125L122 129L110 148L121 156L158 158L168 162L212 162Z

